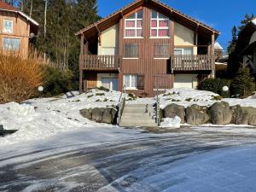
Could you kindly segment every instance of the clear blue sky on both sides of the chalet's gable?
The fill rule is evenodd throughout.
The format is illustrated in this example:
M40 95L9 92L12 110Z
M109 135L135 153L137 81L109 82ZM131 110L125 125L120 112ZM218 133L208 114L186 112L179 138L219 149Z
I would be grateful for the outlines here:
M133 0L98 0L99 15L105 17ZM246 14L256 15L256 0L161 0L183 14L200 20L221 32L217 41L226 49L231 29Z

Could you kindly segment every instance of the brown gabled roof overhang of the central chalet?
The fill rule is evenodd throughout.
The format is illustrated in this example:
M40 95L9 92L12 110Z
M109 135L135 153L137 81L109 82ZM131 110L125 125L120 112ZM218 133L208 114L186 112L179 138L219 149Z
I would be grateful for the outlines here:
M185 21L188 26L194 26L199 31L208 32L215 35L215 38L218 38L218 35L220 34L217 30L213 29L211 26L207 26L206 24L202 23L199 20L195 20L188 15L184 15L180 11L173 9L172 7L160 3L160 1L157 0L137 0L133 3L130 3L129 5L125 6L122 9L119 9L118 11L114 12L111 15L108 15L107 17L103 18L102 20L98 20L96 23L85 27L84 29L80 30L79 32L76 32L75 35L80 36L81 34L85 34L90 37L91 32L96 32L98 30L104 31L108 27L113 25L113 23L118 23L119 19L123 17L123 15L131 12L133 9L137 9L139 6L142 6L144 3L151 3L154 9L161 9L162 11L165 11L166 13L170 14L170 17L172 16L174 19L178 21Z

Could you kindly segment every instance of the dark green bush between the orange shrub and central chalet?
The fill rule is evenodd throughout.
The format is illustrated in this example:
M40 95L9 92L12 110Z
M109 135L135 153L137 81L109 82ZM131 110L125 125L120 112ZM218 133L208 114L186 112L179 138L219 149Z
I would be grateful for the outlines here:
M45 67L45 66L44 66ZM70 90L78 90L79 82L74 79L71 70L61 71L54 67L45 67L44 96L58 96Z

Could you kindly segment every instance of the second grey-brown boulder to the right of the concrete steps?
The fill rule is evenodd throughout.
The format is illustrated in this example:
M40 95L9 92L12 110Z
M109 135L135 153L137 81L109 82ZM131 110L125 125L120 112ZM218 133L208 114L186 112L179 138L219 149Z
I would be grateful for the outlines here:
M186 121L189 125L206 124L210 117L207 113L207 107L192 105L186 108Z

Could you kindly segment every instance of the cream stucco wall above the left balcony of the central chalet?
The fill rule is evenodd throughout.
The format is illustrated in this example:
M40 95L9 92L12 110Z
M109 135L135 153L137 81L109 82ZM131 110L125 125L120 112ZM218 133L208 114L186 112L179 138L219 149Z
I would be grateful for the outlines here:
M113 48L114 54L119 54L119 24L102 32L101 44L98 44L98 55L102 55L102 48Z

